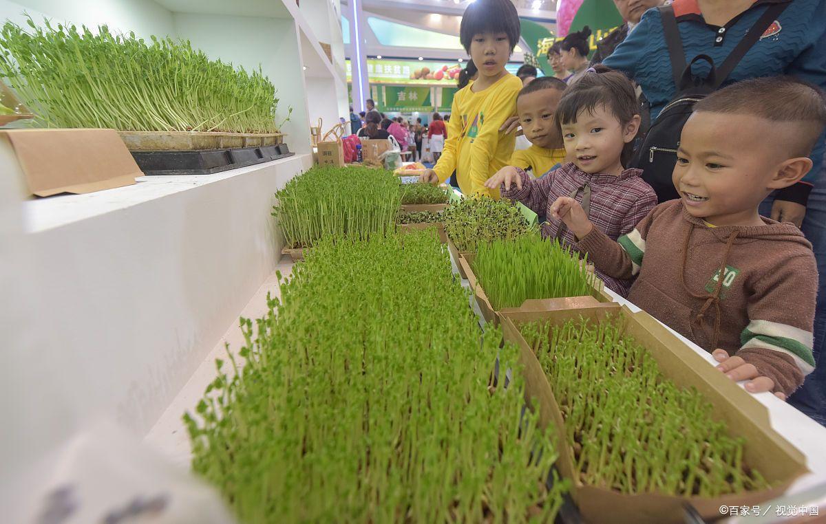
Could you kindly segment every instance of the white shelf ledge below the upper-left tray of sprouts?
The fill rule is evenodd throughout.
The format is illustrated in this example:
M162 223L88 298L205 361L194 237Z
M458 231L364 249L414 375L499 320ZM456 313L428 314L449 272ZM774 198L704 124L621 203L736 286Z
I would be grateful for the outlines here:
M300 154L22 203L21 278L45 338L26 370L53 399L32 427L43 446L98 418L146 435L278 267L275 192L311 166Z

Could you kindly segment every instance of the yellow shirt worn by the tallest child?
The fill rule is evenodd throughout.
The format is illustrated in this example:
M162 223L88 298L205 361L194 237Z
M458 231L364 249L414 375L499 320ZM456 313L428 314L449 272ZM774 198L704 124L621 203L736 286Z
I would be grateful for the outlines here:
M439 182L444 182L455 170L465 195L498 199L499 190L484 184L508 165L514 151L514 135L500 133L499 128L516 113L522 81L508 73L480 92L473 92L472 87L471 82L453 97L448 139L434 171Z

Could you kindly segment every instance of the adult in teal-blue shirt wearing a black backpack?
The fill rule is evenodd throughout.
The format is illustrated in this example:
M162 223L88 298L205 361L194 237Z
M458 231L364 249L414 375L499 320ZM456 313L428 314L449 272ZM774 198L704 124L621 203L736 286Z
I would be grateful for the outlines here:
M723 85L746 78L790 75L826 87L826 0L676 0L672 3L686 63L707 54L723 64L763 13L777 4L786 8L752 45ZM671 61L659 9L643 14L639 25L603 62L624 71L643 88L656 119L676 96ZM692 72L705 78L709 65L695 64ZM814 166L802 182L776 191L761 206L761 214L801 227L818 261L817 313L814 319L814 373L789 402L826 425L826 181L823 177L824 140L811 155ZM814 282L812 283L814 286Z

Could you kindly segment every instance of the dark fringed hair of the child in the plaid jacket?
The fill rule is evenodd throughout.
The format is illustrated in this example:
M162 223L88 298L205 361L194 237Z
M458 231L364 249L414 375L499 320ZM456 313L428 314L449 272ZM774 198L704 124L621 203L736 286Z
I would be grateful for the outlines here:
M639 114L634 84L623 73L604 65L591 69L577 83L567 87L559 101L556 120L560 128L576 123L577 113L583 109L591 112L597 106L605 106L622 124L629 123Z

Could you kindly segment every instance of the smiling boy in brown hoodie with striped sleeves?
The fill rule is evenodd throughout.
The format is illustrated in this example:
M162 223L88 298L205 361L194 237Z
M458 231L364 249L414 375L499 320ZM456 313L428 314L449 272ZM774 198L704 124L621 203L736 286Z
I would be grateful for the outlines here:
M773 190L799 181L826 126L824 96L790 78L735 83L699 101L682 130L672 181L619 243L569 198L553 204L596 267L637 275L629 300L721 362L751 392L785 399L814 370L817 268L793 224L757 214Z

